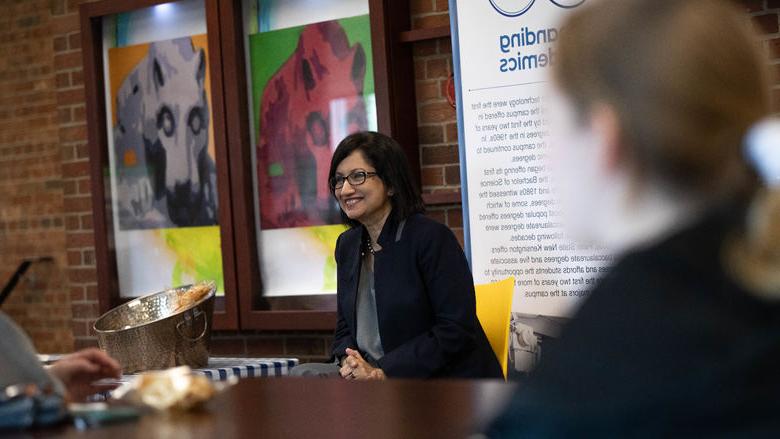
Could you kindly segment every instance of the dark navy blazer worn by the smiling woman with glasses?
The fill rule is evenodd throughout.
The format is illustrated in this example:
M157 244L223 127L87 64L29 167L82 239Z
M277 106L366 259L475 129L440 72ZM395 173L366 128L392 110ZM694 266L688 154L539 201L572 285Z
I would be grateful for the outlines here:
M479 324L474 281L455 236L423 215L398 222L390 215L374 258L379 335L388 377L501 377L501 368ZM399 227L402 224L402 227ZM356 348L356 297L364 227L336 243L338 322L333 355Z

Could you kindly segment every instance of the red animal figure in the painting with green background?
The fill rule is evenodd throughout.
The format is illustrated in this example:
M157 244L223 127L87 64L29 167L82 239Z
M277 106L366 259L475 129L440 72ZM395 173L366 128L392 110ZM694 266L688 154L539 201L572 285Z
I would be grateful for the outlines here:
M357 19L368 29L367 17ZM274 32L288 32L297 42L259 92L261 228L338 224L328 168L338 142L368 128L364 93L370 47L351 44L338 20L309 24L294 34ZM255 53L273 53L271 46L260 41Z

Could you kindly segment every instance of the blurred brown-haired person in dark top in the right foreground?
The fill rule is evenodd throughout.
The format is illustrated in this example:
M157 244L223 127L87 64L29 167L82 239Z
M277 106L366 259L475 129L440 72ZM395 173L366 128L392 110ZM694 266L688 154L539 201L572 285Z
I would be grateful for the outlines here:
M780 434L780 136L742 15L600 0L563 25L551 163L570 234L616 262L489 437Z

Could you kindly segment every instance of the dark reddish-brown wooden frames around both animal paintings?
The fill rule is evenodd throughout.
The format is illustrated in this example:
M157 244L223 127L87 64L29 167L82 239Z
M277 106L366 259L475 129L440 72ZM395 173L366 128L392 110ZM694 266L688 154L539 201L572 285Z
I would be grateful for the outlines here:
M166 0L101 0L80 6L84 58L87 131L101 312L124 301L119 295L113 248L111 209L106 204L109 182L105 120L102 18L167 3ZM225 296L219 298L215 329L332 330L335 311L257 310L253 303L262 291L254 207L252 148L241 0L204 0L208 30L212 118L217 151ZM420 185L417 106L412 58L413 41L442 36L410 31L408 1L369 0L371 43L378 130L404 148L415 183ZM226 117L230 115L230 117ZM455 194L432 194L429 204L452 204ZM335 299L333 299L335 302ZM334 307L335 308L335 307Z

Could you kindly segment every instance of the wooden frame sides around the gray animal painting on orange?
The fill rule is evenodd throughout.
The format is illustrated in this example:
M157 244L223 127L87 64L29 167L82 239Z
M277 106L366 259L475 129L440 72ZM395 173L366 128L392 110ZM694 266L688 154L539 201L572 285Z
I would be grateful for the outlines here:
M116 251L113 242L111 209L106 203L106 172L109 168L108 139L105 121L105 78L103 75L102 18L167 3L169 0L102 0L79 7L82 56L84 61L87 135L90 153L90 177L95 233L95 256L100 312L123 302L119 296ZM235 263L233 261L233 226L230 201L229 156L225 146L224 99L222 96L222 62L220 50L219 0L206 0L206 27L209 42L209 73L212 92L212 129L217 150L217 180L220 197L220 235L222 239L223 275L225 277L225 312L215 312L217 329L237 329ZM214 33L215 35L212 35Z

